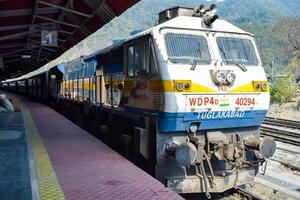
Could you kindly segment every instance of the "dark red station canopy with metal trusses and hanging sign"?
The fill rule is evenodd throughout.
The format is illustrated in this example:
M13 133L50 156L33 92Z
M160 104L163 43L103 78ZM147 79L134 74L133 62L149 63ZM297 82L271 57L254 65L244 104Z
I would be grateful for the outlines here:
M0 79L35 70L139 0L0 0Z

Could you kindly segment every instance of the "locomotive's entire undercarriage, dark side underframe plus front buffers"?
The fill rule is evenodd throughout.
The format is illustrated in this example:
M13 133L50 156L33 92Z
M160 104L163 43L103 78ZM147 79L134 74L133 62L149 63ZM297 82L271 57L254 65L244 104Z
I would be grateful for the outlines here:
M123 153L125 148L131 156L132 152L142 155L148 163L142 168L152 175L155 171L159 181L178 193L223 192L252 182L259 164L275 151L273 139L259 139L258 127L158 133L155 122L147 117L129 118L63 102L67 116L85 116L85 120L73 120L85 121L85 125L78 124L94 129L91 132L112 147L123 146Z

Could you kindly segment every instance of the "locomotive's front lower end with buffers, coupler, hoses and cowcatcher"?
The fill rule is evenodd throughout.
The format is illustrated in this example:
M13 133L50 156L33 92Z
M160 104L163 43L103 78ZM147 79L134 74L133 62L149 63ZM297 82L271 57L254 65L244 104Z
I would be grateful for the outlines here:
M272 138L258 127L157 136L156 176L178 193L223 192L254 180L259 164L273 155Z

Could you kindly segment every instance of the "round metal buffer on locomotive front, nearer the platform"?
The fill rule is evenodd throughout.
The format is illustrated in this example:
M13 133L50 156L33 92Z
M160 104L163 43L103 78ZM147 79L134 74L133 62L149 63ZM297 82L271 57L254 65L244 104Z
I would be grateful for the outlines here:
M175 159L182 166L190 166L197 158L197 148L191 142L185 142L176 147Z

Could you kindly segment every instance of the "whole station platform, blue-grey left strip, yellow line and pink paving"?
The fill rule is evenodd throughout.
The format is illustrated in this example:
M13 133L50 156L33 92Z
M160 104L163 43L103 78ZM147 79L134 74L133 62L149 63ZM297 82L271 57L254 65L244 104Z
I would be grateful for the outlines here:
M20 111L0 113L0 199L183 199L51 108L13 98Z

